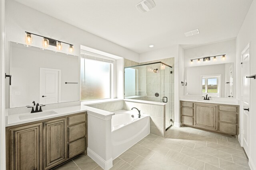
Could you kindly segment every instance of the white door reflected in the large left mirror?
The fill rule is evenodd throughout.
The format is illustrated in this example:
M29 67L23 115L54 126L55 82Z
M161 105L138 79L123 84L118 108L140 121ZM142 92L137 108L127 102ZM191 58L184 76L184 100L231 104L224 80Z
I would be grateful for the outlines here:
M57 103L60 96L61 70L40 68L39 104Z

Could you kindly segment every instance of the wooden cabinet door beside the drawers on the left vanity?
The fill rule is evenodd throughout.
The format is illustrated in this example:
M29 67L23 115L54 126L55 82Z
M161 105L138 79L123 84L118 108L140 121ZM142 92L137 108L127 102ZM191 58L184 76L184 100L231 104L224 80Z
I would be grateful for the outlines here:
M66 118L44 122L44 168L50 169L66 159Z

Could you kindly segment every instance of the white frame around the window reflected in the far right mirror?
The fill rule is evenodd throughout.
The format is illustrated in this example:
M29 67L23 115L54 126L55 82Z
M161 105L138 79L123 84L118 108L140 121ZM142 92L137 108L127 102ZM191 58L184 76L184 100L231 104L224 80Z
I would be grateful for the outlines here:
M203 78L205 78L204 83L205 83L205 92L203 92ZM217 93L208 93L208 78L217 78L217 87L218 87L218 92ZM201 75L201 93L202 96L206 96L206 94L210 97L221 97L221 89L222 89L222 84L221 84L221 80L222 80L222 75L221 74L211 74L211 75Z

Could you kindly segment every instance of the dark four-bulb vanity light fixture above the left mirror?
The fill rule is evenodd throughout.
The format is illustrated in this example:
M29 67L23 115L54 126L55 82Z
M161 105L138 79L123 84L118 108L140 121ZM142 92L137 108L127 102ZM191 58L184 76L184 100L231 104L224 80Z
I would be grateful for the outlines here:
M26 44L27 44L26 46L27 46L27 47L29 47L29 45L32 44L32 35L36 35L36 36L38 36L38 37L43 37L43 39L42 39L42 47L43 47L43 48L42 48L42 49L46 49L46 48L49 47L49 45L52 45L52 46L55 46L58 51L61 51L61 50L62 50L62 44L64 43L64 44L68 44L68 45L69 45L68 51L69 51L70 53L72 53L72 52L74 51L74 47L73 47L73 45L70 44L70 43L65 43L65 42L63 42L63 41L58 41L58 40L56 40L56 39L44 37L44 36L42 36L42 35L30 33L30 32L27 32L27 31L25 31L25 33L26 33L26 35L25 35L25 41L26 41ZM55 52L57 52L57 51L55 51Z

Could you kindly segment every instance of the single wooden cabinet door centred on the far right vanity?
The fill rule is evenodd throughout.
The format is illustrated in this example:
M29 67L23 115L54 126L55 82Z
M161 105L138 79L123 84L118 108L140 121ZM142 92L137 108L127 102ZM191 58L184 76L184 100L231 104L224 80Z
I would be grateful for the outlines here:
M195 126L216 130L216 107L196 104Z

